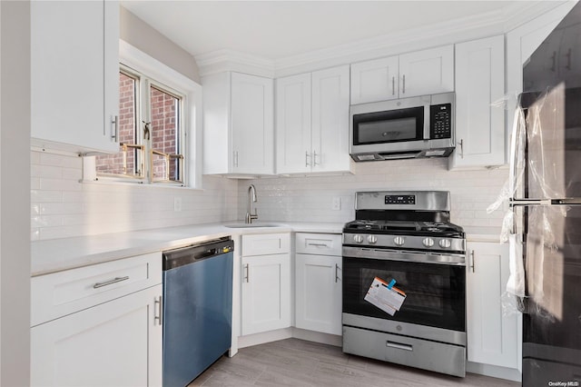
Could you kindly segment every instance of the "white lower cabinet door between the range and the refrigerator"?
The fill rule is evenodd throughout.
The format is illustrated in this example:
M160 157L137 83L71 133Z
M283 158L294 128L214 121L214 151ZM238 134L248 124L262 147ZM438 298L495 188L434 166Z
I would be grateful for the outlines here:
M503 313L508 246L468 243L468 361L517 368L517 315Z

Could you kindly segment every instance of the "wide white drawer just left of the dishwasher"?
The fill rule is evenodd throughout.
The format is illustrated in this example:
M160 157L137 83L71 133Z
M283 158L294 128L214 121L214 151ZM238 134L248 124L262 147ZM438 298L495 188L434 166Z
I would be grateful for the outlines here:
M31 325L162 283L162 253L98 263L31 279Z

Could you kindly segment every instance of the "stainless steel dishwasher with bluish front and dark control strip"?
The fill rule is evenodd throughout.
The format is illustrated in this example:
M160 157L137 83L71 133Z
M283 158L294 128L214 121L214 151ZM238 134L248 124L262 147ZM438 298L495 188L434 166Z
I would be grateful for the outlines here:
M192 382L231 346L230 237L163 253L163 386Z

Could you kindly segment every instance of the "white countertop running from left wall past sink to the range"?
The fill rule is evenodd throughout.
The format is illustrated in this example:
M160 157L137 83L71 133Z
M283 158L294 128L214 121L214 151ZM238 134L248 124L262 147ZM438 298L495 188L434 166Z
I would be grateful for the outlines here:
M229 223L206 223L35 241L31 243L31 275L61 272L143 253L161 252L228 235L291 232L341 233L343 229L343 223L264 223L276 223L277 226L230 228L224 225Z

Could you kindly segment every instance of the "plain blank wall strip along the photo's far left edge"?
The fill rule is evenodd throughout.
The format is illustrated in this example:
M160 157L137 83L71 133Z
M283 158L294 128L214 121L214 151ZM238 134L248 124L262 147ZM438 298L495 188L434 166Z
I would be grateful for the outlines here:
M30 3L0 2L0 385L30 383Z

